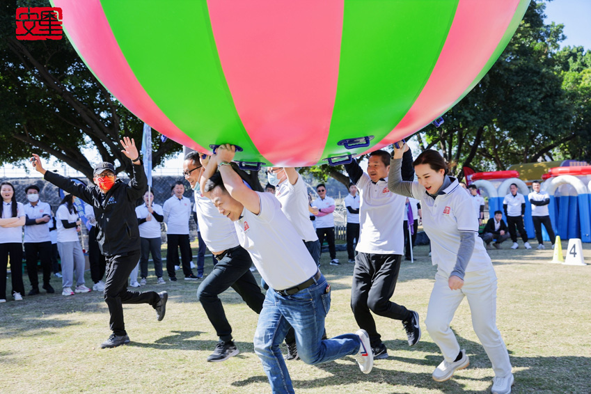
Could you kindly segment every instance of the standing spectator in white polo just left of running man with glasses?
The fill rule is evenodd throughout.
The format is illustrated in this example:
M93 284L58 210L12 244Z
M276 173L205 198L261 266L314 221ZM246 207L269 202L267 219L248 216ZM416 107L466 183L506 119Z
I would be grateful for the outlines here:
M189 243L189 219L191 218L191 200L184 197L184 184L180 180L172 187L173 196L164 202L164 222L166 223L166 271L171 282L176 282L175 266L181 265L178 260L178 249L182 261L182 272L185 281L196 281L198 276L191 271L191 244Z

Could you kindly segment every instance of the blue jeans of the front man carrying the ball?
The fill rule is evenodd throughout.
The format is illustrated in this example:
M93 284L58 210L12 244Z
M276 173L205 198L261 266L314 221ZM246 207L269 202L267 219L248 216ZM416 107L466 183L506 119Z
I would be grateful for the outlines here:
M343 334L322 340L324 318L331 308L331 294L324 276L307 289L283 296L269 289L258 317L255 353L262 362L273 393L294 393L290 374L279 345L292 326L297 354L306 364L320 364L356 354L361 340L356 334Z

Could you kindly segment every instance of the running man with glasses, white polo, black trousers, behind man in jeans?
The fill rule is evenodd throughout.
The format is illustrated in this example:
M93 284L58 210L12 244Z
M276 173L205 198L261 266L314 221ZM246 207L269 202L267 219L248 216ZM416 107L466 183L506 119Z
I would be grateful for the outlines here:
M260 291L250 271L253 260L240 246L234 225L218 212L212 200L201 194L199 181L203 179L205 182L205 178L201 177L202 161L207 166L209 157L200 157L199 152L189 152L184 157L182 168L184 179L194 189L195 212L201 237L216 259L211 274L197 289L197 299L219 338L214 352L207 357L207 361L219 362L239 353L232 338L232 326L223 310L219 294L232 287L256 313L262 310L265 295ZM293 334L291 340L295 342Z

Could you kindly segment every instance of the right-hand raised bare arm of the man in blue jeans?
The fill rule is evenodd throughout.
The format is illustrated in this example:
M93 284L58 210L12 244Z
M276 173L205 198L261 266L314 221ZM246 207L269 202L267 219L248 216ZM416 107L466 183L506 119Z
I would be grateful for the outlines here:
M258 194L242 182L242 178L240 178L240 175L234 171L234 168L230 164L236 153L235 146L229 143L219 145L216 152L217 154L212 156L212 159L215 159L217 163L223 186L226 187L232 198L244 205L253 214L258 215L260 213L260 198Z

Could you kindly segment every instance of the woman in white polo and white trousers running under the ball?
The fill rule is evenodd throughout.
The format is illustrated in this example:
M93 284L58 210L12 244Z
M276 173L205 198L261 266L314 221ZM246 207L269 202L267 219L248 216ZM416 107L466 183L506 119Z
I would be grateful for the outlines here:
M491 360L495 377L494 394L511 392L513 374L507 347L496 328L496 275L489 255L478 237L478 220L471 197L457 179L446 175L446 161L435 150L425 150L413 162L418 182L402 181L402 154L408 150L399 142L388 175L388 189L420 200L423 228L431 239L433 265L437 274L425 325L443 353L434 370L436 381L446 381L456 370L466 368L468 356L459 344L450 322L464 297L472 313L472 325Z

